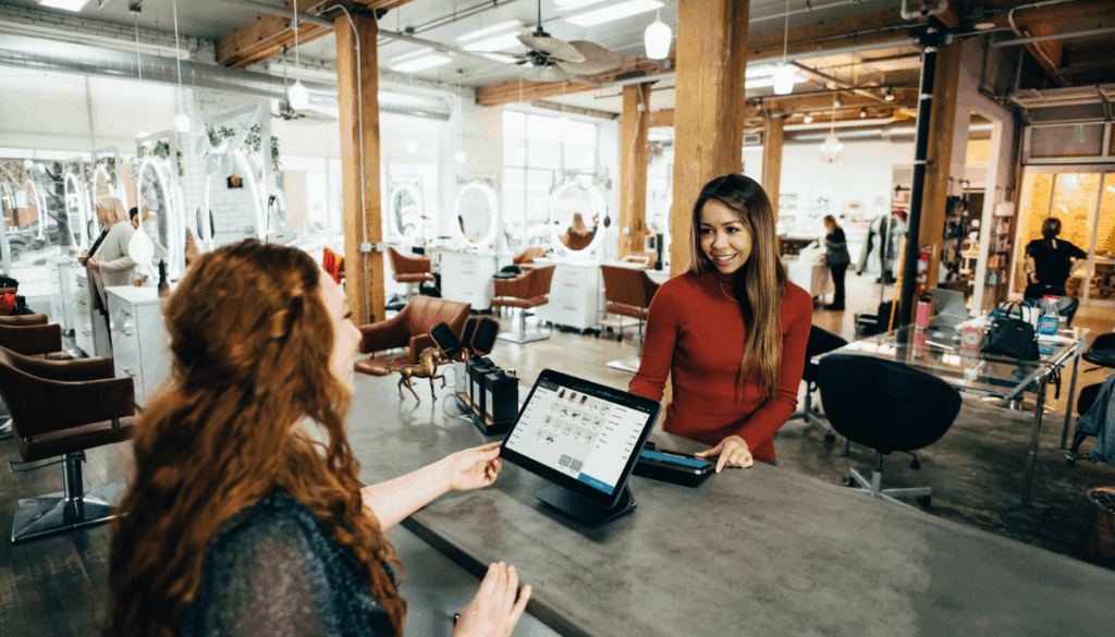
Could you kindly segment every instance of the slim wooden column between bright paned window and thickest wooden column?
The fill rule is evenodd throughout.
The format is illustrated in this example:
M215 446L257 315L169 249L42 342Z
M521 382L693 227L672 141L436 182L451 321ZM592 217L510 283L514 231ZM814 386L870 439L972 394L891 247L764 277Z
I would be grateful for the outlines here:
M620 259L631 252L641 252L642 238L647 234L649 120L650 84L624 86L620 118Z

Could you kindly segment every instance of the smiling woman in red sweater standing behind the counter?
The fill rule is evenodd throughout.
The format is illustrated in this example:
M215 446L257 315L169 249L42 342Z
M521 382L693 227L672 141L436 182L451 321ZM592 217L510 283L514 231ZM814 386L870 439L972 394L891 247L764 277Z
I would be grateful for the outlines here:
M665 430L712 448L716 470L776 464L774 434L797 406L813 302L786 279L774 211L743 175L709 182L694 204L689 271L655 295L632 394L673 400Z

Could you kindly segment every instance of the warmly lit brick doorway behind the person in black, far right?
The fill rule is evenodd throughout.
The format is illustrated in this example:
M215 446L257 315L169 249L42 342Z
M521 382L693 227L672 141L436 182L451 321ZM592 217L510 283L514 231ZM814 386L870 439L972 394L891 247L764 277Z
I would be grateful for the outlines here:
M1056 216L1059 239L1088 253L1066 283L1082 303L1115 306L1115 166L1027 166L1018 210L1018 241L1010 289L1026 288L1026 244L1041 239L1041 222Z

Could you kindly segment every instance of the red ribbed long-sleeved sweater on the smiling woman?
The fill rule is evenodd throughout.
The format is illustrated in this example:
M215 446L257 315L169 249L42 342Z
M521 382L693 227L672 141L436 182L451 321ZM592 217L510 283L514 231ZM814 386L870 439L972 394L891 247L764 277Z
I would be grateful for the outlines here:
M755 460L774 462L774 434L797 406L813 300L788 283L782 301L782 367L774 398L753 383L736 392L746 328L731 295L731 276L681 274L662 284L650 303L632 394L661 400L672 373L673 400L663 428L716 445L730 435L747 442ZM723 288L721 288L723 283Z

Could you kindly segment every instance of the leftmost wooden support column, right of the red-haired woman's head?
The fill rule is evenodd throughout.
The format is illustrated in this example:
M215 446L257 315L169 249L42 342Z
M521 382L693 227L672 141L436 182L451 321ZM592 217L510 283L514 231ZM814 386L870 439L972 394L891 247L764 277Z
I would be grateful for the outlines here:
M375 245L384 240L384 231L379 207L378 30L370 17L353 16L352 20L359 36L352 32L345 16L337 19L334 32L345 204L345 292L352 322L359 326L384 320L384 254L360 253L362 241ZM363 122L362 145L358 118Z

